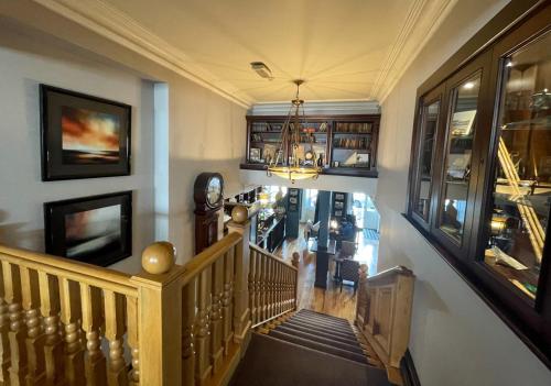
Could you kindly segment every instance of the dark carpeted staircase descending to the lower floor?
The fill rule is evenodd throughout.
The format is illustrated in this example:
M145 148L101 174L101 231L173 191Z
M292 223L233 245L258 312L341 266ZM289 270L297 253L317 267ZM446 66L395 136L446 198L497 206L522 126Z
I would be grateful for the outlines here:
M230 385L390 385L366 354L346 319L303 309L252 334Z

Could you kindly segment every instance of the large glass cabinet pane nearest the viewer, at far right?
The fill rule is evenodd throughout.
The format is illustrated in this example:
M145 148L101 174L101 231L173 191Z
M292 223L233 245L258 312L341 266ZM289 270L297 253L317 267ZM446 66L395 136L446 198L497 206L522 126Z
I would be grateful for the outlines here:
M534 299L551 207L551 33L501 60L484 262Z

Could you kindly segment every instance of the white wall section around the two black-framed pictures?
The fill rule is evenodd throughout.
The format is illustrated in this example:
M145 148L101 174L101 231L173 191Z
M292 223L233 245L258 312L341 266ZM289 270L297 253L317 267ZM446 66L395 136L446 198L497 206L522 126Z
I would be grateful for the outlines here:
M132 106L131 176L41 181L40 84ZM132 190L133 256L112 267L139 271L153 241L152 84L0 26L0 243L43 252L44 202Z

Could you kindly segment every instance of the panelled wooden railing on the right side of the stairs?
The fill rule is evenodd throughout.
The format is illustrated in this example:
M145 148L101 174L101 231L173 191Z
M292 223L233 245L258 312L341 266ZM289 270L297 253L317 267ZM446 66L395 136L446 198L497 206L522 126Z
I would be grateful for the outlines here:
M400 361L409 344L414 279L403 266L370 277L361 272L359 278L355 324L397 385L402 384Z

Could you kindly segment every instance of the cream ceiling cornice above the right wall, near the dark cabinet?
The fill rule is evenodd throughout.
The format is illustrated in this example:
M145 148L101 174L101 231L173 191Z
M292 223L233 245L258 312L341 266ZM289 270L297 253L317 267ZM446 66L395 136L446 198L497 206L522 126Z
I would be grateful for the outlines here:
M414 0L382 64L370 92L371 98L382 103L456 2L457 0Z

